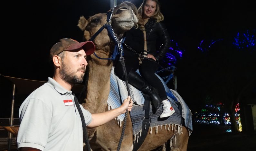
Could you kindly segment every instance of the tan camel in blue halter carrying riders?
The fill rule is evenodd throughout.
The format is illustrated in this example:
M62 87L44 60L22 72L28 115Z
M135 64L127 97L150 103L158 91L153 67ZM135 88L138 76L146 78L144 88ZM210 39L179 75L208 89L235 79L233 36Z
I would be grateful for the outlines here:
M135 5L131 3L122 3L114 8L111 26L118 40L124 36L125 31L131 29L137 23L136 15L132 11L134 8L136 8ZM81 16L78 21L78 27L83 31L83 38L87 41L90 40L106 22L106 13L95 14L88 20L86 20L84 16ZM96 46L95 53L97 56L100 58L111 57L115 43L109 36L107 29L103 29L93 42ZM110 91L110 69L112 67L112 61L99 59L93 54L88 56L87 60L88 66L86 70L88 73L86 78L88 78L88 82L86 98L82 106L91 113L108 111L107 100ZM117 123L117 120L113 119L102 126L88 129L90 146L93 151L117 150L123 126L122 124L120 127ZM153 128L153 131L154 130L156 131L156 128ZM156 134L149 134L149 131L139 151L149 151L161 147L167 140L172 138L175 133L172 129L169 131L158 130ZM171 150L185 151L187 149L189 134L188 129L183 126L182 133L175 136L176 142L172 143ZM132 123L128 114L120 150L132 151L133 139Z

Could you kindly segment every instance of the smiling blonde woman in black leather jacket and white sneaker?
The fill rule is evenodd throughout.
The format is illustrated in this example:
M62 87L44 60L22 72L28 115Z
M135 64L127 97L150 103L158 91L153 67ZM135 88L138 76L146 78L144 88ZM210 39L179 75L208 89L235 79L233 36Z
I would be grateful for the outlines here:
M166 52L171 46L170 37L162 22L164 16L160 12L158 0L144 0L138 8L138 13L143 19L147 40L147 51L144 52L144 56L147 57L147 59L142 60L139 72L141 76L158 91L164 108L160 118L165 118L171 116L175 111L170 101L168 101L164 85L155 75L155 72L158 70L159 60L166 55ZM160 49L156 48L158 42L162 44ZM158 49L159 51L157 52Z

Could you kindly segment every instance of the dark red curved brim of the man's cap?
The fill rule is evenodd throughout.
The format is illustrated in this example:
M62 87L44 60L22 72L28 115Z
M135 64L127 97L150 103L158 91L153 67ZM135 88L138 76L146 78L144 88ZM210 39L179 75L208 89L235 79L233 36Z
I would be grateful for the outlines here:
M66 48L65 50L75 50L79 48L83 48L87 56L93 54L93 52L95 51L95 45L92 41L74 43L70 45L68 48Z

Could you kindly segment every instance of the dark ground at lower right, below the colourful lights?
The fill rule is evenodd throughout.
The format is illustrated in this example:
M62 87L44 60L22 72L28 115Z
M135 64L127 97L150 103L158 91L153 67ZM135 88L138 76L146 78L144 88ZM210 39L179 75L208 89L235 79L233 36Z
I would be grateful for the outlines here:
M256 132L233 134L229 126L194 124L187 151L256 151Z

